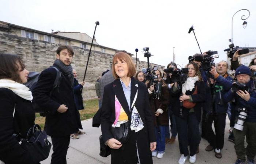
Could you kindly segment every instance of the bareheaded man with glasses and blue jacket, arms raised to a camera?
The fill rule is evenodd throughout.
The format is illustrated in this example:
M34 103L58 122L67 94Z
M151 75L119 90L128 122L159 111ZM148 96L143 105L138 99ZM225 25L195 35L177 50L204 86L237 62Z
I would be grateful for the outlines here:
M210 73L215 80L210 78L214 85L214 94L212 97L213 111L211 114L203 115L204 133L207 141L210 143L206 147L206 151L215 151L215 157L221 158L221 149L224 145L224 133L226 125L227 102L223 101L223 94L229 91L232 86L233 79L227 74L228 64L221 61L217 64L216 69L212 66ZM207 117L207 118L206 118ZM212 122L214 121L215 134L212 130Z

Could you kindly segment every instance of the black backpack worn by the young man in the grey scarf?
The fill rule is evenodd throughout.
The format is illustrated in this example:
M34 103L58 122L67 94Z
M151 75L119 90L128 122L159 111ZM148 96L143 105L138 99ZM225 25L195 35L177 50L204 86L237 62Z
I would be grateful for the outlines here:
M52 90L50 91L50 94L49 94L49 96L51 97L54 89L59 90L60 80L61 80L61 71L54 66L52 66L50 68L54 68L57 71ZM38 82L39 75L40 75L40 73L38 73L38 72L30 72L28 75L28 79L27 79L27 82L25 83L25 85L30 89L30 91L32 93L33 93L34 87L36 86L36 83ZM33 100L32 100L32 106L33 106L35 113L39 113L40 116L43 116L43 117L46 116L46 110L43 109L40 105L38 105Z

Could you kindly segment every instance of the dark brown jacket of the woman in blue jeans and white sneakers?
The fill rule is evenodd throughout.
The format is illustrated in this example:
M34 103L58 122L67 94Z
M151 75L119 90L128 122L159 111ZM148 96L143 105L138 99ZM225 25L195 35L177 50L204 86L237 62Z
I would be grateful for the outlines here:
M150 83L147 84L147 88L150 88ZM153 113L157 112L157 109L162 109L163 113L159 116L154 114L154 125L169 125L167 107L169 105L169 91L167 85L162 86L161 84L161 94L159 99L155 97L155 90L153 93L149 94L150 107Z

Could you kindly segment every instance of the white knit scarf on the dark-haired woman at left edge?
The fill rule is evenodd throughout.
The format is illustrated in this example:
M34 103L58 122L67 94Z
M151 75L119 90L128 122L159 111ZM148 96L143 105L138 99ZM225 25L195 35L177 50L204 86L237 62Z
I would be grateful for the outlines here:
M10 79L0 79L0 87L8 88L12 90L16 95L26 100L31 101L33 99L31 91L29 88L23 84L17 83Z

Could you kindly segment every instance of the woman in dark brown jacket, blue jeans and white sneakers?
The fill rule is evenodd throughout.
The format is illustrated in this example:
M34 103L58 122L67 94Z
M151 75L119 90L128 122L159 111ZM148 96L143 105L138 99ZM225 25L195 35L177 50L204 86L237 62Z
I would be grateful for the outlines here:
M169 105L168 87L161 79L162 74L159 70L155 71L158 78L154 79L153 85L150 81L146 82L149 102L151 110L154 113L155 134L157 136L157 148L152 152L152 156L162 158L165 154L165 130L169 126L169 119L167 114L167 106Z

